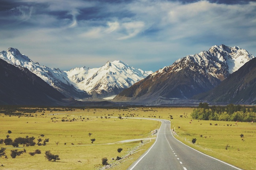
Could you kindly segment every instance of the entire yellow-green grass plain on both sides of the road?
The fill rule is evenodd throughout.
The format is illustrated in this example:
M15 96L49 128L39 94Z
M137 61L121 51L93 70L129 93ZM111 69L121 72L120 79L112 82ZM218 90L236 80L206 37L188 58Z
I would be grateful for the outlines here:
M89 108L36 112L31 116L20 117L1 114L0 139L5 139L6 135L10 135L12 139L33 136L35 142L38 138L49 138L49 143L46 146L25 146L27 153L15 159L10 157L10 151L16 148L0 144L0 147L7 148L5 152L8 156L8 159L0 158L0 165L3 164L0 169L99 169L101 159L104 157L108 158L109 163L118 162L112 169L127 169L153 144L154 140L143 141L144 145L140 141L129 143L118 143L118 141L151 137L151 131L158 129L161 124L151 120L125 119L126 116L171 120L171 128L178 134L175 137L185 144L242 169L256 169L255 123L238 122L235 125L236 122L191 121L192 110L193 108L154 107ZM170 115L173 119L170 119ZM119 119L119 116L123 119ZM8 134L8 130L12 133ZM89 133L92 133L91 137ZM45 136L41 137L41 134ZM241 138L240 134L244 137ZM95 141L91 143L90 139L93 138ZM191 142L193 138L197 139L195 144ZM114 144L106 145L108 143ZM23 150L23 146L19 147L19 150ZM129 155L136 147L136 153ZM123 151L118 153L118 148L122 148ZM30 156L29 152L36 149L41 150L42 154ZM47 161L44 157L47 150L52 154L58 154L60 160ZM125 155L129 156L119 161L110 160Z

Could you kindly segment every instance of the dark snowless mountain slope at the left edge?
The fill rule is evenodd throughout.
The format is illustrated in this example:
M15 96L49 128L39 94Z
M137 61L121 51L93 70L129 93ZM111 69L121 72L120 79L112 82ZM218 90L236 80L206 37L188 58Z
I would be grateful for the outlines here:
M0 104L59 106L65 96L27 68L0 59Z

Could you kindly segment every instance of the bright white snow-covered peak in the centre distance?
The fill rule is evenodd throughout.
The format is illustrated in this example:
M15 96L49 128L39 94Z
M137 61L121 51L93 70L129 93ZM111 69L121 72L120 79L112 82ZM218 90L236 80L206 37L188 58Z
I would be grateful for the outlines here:
M144 72L118 60L107 62L100 68L74 68L65 73L80 90L94 96L110 96L117 95L151 74L152 71Z

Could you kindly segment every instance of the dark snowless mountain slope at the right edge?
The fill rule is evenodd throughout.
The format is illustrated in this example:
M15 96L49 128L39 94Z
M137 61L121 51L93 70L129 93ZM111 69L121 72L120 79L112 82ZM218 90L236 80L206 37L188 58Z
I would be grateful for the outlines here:
M218 103L256 104L256 58L245 63L214 89L193 99Z

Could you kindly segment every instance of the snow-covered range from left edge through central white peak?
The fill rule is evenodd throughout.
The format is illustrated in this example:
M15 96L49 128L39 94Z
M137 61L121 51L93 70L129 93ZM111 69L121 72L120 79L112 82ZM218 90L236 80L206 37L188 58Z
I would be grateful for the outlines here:
M63 71L40 66L15 48L0 52L0 59L27 68L66 97L75 99L117 95L152 73L129 67L121 61L108 62L101 68L82 67Z

